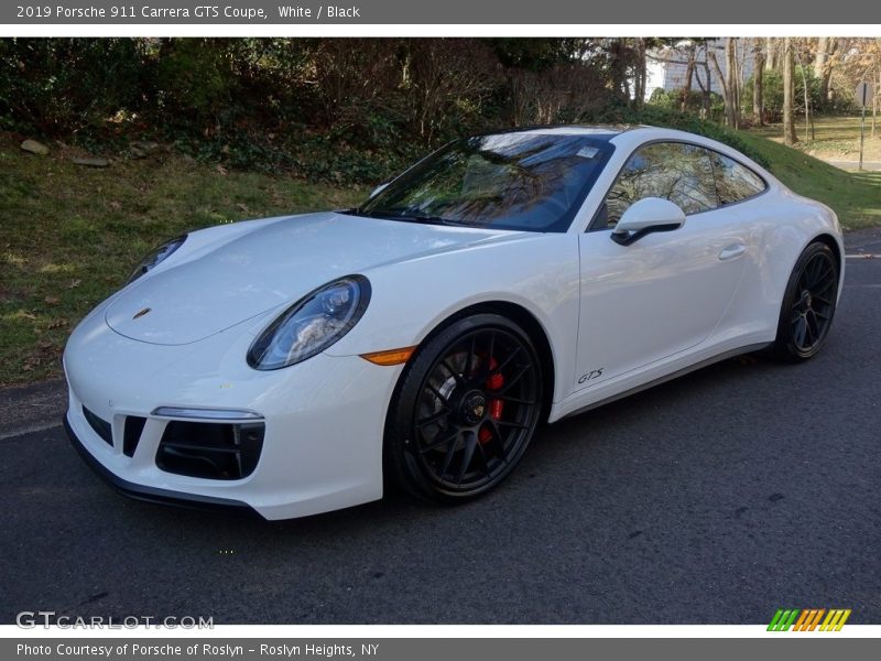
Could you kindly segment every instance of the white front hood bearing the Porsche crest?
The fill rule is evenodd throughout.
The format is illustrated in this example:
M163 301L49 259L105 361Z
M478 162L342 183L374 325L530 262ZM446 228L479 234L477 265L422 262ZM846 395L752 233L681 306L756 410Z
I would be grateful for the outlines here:
M168 262L113 299L107 324L141 342L191 344L336 278L521 234L334 213L244 225L208 230L217 236L207 245L192 235Z

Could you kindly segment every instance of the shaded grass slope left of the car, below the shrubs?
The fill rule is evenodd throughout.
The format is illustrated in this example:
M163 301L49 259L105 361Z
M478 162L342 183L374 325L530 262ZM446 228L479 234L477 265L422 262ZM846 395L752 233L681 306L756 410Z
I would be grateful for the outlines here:
M73 326L156 243L188 229L351 206L363 188L224 172L171 154L74 165L0 133L0 386L61 376ZM83 155L83 154L73 154Z

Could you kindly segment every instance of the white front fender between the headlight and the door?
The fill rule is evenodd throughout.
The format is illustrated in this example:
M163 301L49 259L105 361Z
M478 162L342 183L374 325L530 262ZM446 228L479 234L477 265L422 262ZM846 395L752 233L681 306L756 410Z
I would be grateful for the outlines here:
M504 302L524 308L544 329L554 357L555 399L573 382L580 280L577 235L519 235L385 264L365 275L371 284L370 305L327 354L418 345L457 312Z

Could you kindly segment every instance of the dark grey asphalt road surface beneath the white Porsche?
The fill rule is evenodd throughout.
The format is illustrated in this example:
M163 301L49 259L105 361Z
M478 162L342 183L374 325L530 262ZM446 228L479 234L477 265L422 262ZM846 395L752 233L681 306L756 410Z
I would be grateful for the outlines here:
M881 259L848 261L815 360L729 360L553 425L465 507L243 521L118 496L57 427L7 437L0 621L881 622Z

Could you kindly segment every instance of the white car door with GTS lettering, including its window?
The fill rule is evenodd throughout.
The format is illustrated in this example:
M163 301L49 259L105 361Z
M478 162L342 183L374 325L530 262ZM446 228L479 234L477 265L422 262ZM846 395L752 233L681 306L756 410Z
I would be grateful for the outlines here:
M623 212L663 197L686 214L672 231L611 240ZM628 159L579 238L580 316L575 389L646 367L705 340L737 292L749 237L720 205L708 150L652 142Z

